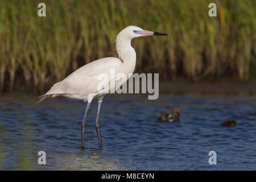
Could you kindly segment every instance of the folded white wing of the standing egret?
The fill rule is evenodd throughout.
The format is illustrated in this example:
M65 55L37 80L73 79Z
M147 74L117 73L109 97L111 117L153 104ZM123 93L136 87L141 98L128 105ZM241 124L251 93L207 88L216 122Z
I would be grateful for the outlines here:
M96 93L100 82L98 75L101 73L109 74L110 69L117 69L121 64L122 61L116 57L106 57L93 61L77 69L63 81L54 84L46 94L70 94L82 97Z

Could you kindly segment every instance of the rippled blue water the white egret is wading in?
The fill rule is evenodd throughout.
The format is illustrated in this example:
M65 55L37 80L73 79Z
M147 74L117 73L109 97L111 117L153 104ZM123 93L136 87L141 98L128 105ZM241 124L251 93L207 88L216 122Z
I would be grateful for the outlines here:
M46 100L32 106L31 96L0 98L0 169L89 170L255 170L255 96L111 95L101 111L103 148L95 130L97 103L88 115L85 146L81 121L85 104ZM158 121L158 114L181 109L181 122ZM237 126L220 126L236 119ZM209 165L209 151L217 165ZM46 151L46 165L38 164Z

